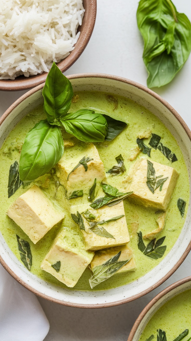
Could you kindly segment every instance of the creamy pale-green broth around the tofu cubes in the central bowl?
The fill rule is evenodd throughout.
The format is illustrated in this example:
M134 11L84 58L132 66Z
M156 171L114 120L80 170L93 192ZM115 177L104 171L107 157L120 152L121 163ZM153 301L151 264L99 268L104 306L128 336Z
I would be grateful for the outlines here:
M113 174L106 173L106 179L103 179L104 183L107 182L111 186L117 188L120 192L128 192L129 190L131 190L129 188L131 186L132 173L134 173L132 172L132 169L134 165L139 162L139 160L140 162L144 160L146 160L145 162L147 162L147 160L149 160L150 163L157 162L159 164L172 167L179 174L177 181L175 181L176 185L173 190L172 198L166 209L166 216L164 216L165 213L163 209L156 207L146 207L143 203L140 203L139 200L136 199L136 197L133 198L132 195L124 199L123 204L130 238L130 241L128 242L128 247L133 252L133 260L136 263L136 269L134 266L132 267L132 269L130 269L130 271L121 271L119 273L115 273L112 277L96 285L93 288L93 290L106 290L130 283L142 277L143 275L145 275L145 273L149 272L157 264L159 264L161 260L172 249L185 222L189 203L189 179L183 155L180 148L178 147L175 138L164 126L164 124L144 107L124 97L116 95L113 95L113 97L112 95L111 97L108 97L103 92L84 91L75 93L73 101L71 103L70 112L76 112L80 108L93 109L97 113L107 114L112 118L121 120L128 124L125 129L112 141L94 143L98 150L99 157L104 164L105 172L108 172L108 170L112 169L113 166L117 166L115 158L118 157L118 155L121 154L122 158L124 159L124 166L126 169L124 173L114 176ZM7 194L10 166L15 162L15 160L17 160L19 163L22 144L29 129L34 127L36 122L45 118L46 116L43 112L43 106L39 106L34 109L16 125L9 136L5 139L5 142L3 143L3 146L0 150L0 188L2 198L0 230L6 243L19 261L21 261L21 259L18 250L16 235L18 235L21 239L29 242L32 253L32 273L37 275L39 278L44 279L45 281L65 288L67 286L64 283L60 282L50 273L42 270L40 266L48 250L51 248L54 238L57 236L58 232L63 226L66 226L69 230L73 231L74 234L78 235L83 244L83 236L85 232L80 230L79 226L74 222L73 219L71 219L71 212L76 213L78 210L80 213L82 213L85 211L85 205L91 204L87 199L90 186L88 188L85 186L83 188L80 188L80 186L78 186L78 188L75 188L74 185L73 190L83 189L83 197L76 197L68 200L65 195L64 187L59 184L59 178L57 177L57 167L55 167L55 170L53 169L48 174L48 176L45 175L40 179L35 180L32 184L29 184L28 186L26 185L25 188L20 186L10 198L8 198ZM168 147L172 151L172 153L176 155L177 161L171 162L171 160L166 158L159 148L155 149L149 146L149 141L152 138L151 133L160 135L160 142L163 146ZM86 148L84 142L81 142L77 138L67 134L66 132L64 132L63 129L62 136L65 141L64 155L66 159L69 159L71 155L77 156L79 151L83 150L83 148ZM151 148L150 157L148 156L148 154L144 154L142 151L139 152L138 144L136 142L138 137L140 137L145 146ZM72 146L73 144L74 146ZM136 154L138 154L137 157ZM88 155L86 154L86 157L87 156ZM157 174L157 165L155 163L153 165L156 170L156 176L159 177L157 178L157 181L158 179L165 180L165 174L159 174L160 172ZM94 178L92 178L91 180L92 186ZM165 189L165 181L162 185L161 191L159 191L159 187L155 189L156 191L158 191L159 194L162 193L162 191ZM10 217L6 215L6 212L9 209L10 205L14 203L14 201L21 194L28 191L34 184L36 184L53 202L55 209L58 209L59 212L64 212L65 214L65 218L63 219L63 221L53 226L50 231L47 232L45 236L36 244L34 244L30 240L30 238L23 232L23 230ZM150 193L150 195L153 195L151 191ZM97 197L103 196L105 196L105 193L102 192L100 182L97 181L95 199ZM177 201L179 198L186 202L186 207L184 207L184 216L183 212L180 212L177 206ZM182 202L180 202L180 206L181 203ZM116 205L112 207L114 209ZM115 214L114 216L116 217L120 214ZM162 237L165 237L162 243L162 246L166 246L164 255L161 258L154 259L144 254L144 251L141 251L138 248L137 233L142 232L142 236L144 237L146 234L156 230L159 227L159 223L157 223L157 221L159 222L161 220L161 217L163 220L165 219L165 225L162 231L159 234L154 234L153 238L143 238L143 242L146 246L151 239L156 238L158 240ZM115 224L117 224L119 221L120 219L116 221ZM107 229L107 223L100 226ZM100 238L103 237L100 236ZM111 238L104 239L109 240ZM116 240L116 238L113 238L113 240ZM97 254L97 256L101 254L100 251L95 251L95 253ZM99 264L95 263L95 265ZM89 284L89 278L91 276L92 271L87 266L77 284L74 286L74 288L71 289L90 291L91 287Z

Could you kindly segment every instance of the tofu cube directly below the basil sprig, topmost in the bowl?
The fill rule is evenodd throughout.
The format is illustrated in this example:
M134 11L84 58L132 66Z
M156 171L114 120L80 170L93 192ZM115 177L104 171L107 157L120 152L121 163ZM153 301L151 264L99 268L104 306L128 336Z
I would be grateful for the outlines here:
M84 157L93 159L87 162L87 170L85 171L84 166L80 165L71 172ZM91 188L92 181L95 178L98 183L106 177L104 164L100 160L98 151L93 143L83 143L67 148L58 162L56 169L60 183L69 193L74 190L84 190L85 187Z

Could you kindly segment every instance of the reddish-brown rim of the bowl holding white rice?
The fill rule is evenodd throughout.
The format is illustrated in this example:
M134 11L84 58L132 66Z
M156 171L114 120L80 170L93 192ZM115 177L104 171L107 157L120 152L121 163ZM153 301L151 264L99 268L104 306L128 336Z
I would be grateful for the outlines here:
M84 3L85 2L85 3ZM70 54L62 59L59 63L57 63L59 69L62 72L65 72L73 65L77 59L81 56L82 52L86 48L89 40L91 38L95 20L96 20L96 12L97 12L97 0L83 0L83 6L86 10L85 21L82 19L82 25L78 26L78 30L80 31L80 36L78 41L74 45L75 48L70 51ZM33 87L38 86L45 82L47 77L47 72L39 73L37 75L31 75L29 77L21 76L22 79L16 77L15 79L0 79L0 90L2 91L20 91L27 90Z

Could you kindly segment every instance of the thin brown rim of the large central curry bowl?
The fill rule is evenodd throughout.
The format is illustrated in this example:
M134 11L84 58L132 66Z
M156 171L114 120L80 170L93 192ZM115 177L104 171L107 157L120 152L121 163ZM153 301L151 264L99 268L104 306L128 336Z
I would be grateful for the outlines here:
M177 120L180 122L180 124L182 125L182 127L184 128L185 132L187 133L190 141L191 141L191 131L188 128L187 124L185 123L185 121L181 118L181 116L176 112L176 110L167 102L165 101L163 98L161 98L157 93L155 93L153 90L150 90L149 88L145 87L144 85L141 85L133 80L130 80L128 78L124 78L124 77L120 77L120 76L115 76L115 75L109 75L109 74L102 74L102 73L81 73L81 74L74 74L74 75L69 75L67 76L68 79L76 79L76 78L91 78L91 77L96 77L96 78L107 78L107 79L112 79L112 80L117 80L117 81L121 81L123 83L132 85L134 87L137 87L138 89L141 89L143 91L145 91L146 93L152 95L155 99L157 99L158 101L160 101L167 109L170 110L170 112L177 118ZM35 93L38 90L41 90L44 87L44 84L40 84L38 86L36 86L35 88L29 90L28 92L26 92L25 94L23 94L20 98L18 98L6 111L5 113L1 116L0 118L0 125L2 124L2 122L5 120L5 118L11 114L12 110L14 108L16 108L21 102L23 102L26 98L28 98L30 95L32 95L33 93ZM7 270L7 272L10 273L10 275L17 280L17 282L19 282L20 284L22 284L24 287L26 287L28 290L30 290L31 292L33 292L34 294L36 294L39 297L42 297L44 299L47 299L49 301L52 301L54 303L60 303L62 305L68 306L68 307L76 307L76 308L108 308L108 307L114 307L114 306L118 306L124 303L128 303L131 302L133 300L136 300L137 298L140 298L146 294L148 294L149 292L153 291L154 289L156 289L159 285L161 285L163 282L165 282L169 277L171 277L171 275L179 268L179 266L182 264L182 262L184 262L185 258L187 257L188 253L191 250L191 242L188 244L185 252L182 254L181 258L179 259L179 261L174 265L174 267L166 273L166 275L164 277L162 277L157 283L155 283L153 286L148 287L146 290L142 291L139 294L136 294L134 296L131 296L129 298L125 298L122 299L120 301L114 301L114 302L109 302L109 303L103 303L103 304L86 304L86 305L82 305L79 303L70 303L70 302L63 302L59 299L56 298L52 298L50 296L47 296L45 294L42 294L40 292L38 292L37 290L35 290L34 288L32 288L29 284L25 283L23 280L21 280L14 271L12 271L9 266L6 265L6 263L3 261L2 257L0 256L0 263L2 264L2 266L5 268L5 270ZM128 340L130 341L130 340Z

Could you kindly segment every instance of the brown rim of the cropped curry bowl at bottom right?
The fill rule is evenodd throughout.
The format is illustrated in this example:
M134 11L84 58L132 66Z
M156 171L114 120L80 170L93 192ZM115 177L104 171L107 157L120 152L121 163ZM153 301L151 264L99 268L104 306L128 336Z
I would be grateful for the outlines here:
M191 281L191 276L185 277L183 279L180 279L179 281L169 285L168 287L166 287L164 290L162 290L159 294L157 294L147 305L146 307L142 310L142 312L139 314L139 316L137 317L137 320L135 321L135 323L132 326L132 329L130 331L129 337L127 341L132 341L133 337L141 323L141 321L143 320L144 316L148 313L148 311L162 298L164 297L166 294L168 294L170 291L172 291L173 289L179 287L180 285L190 282ZM175 297L176 294L173 296ZM172 298L172 297L171 297Z

